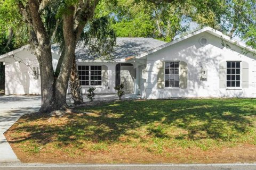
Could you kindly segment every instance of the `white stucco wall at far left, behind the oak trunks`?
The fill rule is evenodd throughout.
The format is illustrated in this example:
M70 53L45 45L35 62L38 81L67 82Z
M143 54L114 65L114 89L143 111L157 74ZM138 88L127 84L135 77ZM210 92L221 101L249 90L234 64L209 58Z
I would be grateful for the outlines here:
M54 69L58 63L56 58L58 55L53 54ZM5 63L5 95L41 94L40 75L37 79L33 72L33 67L39 70L39 64L30 50L23 49L2 61Z

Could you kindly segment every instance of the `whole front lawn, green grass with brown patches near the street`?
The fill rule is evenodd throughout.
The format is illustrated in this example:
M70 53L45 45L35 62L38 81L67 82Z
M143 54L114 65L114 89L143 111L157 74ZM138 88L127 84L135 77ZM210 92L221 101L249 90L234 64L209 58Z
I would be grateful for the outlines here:
M135 100L78 111L25 115L5 136L22 162L256 162L256 99Z

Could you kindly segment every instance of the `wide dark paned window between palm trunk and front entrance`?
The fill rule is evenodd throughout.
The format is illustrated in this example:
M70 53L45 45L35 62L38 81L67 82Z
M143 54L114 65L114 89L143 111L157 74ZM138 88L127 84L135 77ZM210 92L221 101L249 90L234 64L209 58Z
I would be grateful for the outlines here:
M82 86L101 86L101 66L78 65L79 80Z

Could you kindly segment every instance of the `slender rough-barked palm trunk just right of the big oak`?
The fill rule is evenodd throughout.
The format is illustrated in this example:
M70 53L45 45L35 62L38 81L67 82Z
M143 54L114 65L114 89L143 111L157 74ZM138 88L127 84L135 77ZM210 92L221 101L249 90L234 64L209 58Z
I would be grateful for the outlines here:
M80 105L84 103L81 91L81 84L77 73L76 68L76 58L73 59L73 66L70 74L69 87L71 90L72 99L74 100L75 105Z

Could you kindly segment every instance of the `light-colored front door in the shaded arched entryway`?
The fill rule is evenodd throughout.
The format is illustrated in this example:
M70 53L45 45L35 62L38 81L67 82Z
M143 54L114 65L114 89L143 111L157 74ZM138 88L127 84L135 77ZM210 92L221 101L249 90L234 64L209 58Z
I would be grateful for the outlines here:
M133 94L133 66L121 66L121 83L124 84L124 92L126 94Z

